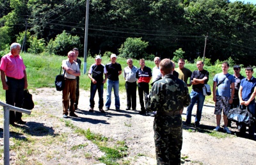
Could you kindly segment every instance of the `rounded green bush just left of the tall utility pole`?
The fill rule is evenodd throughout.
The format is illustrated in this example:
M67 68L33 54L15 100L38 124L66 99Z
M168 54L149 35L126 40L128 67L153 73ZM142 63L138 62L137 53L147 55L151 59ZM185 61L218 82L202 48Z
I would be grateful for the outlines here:
M63 31L63 33L56 36L55 40L51 39L49 41L46 51L50 54L66 56L74 47L81 47L79 36L72 36Z

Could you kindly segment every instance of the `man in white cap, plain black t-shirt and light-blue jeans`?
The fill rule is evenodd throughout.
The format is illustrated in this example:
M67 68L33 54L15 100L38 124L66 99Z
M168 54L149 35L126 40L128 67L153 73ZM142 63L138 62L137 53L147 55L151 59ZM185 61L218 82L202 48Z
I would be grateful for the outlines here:
M111 91L114 89L115 95L115 107L116 111L120 111L120 99L119 99L119 78L118 76L122 74L122 67L119 63L116 63L116 54L111 54L111 63L106 65L106 70L108 74L107 80L107 99L106 99L106 110L109 110L111 106Z

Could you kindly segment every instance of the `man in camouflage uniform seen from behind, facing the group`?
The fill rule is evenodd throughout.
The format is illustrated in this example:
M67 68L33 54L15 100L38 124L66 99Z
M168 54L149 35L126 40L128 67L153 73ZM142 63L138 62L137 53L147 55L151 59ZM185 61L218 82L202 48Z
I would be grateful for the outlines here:
M190 104L188 87L172 75L170 59L163 59L159 66L163 79L154 83L147 103L149 111L157 111L154 120L157 164L180 164L181 114L183 108Z

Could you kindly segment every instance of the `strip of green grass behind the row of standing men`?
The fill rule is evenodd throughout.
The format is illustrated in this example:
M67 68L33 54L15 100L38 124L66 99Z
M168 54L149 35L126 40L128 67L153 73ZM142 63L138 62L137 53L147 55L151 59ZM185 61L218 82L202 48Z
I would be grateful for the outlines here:
M60 74L60 67L61 61L63 59L67 59L67 56L56 56L56 55L35 55L35 54L21 54L22 58L24 59L24 63L26 65L26 72L28 75L28 88L35 89L35 88L42 88L42 87L49 87L54 88L54 80L55 76ZM86 74L83 74L83 66L84 66L84 58L80 58L82 61L81 66L81 76L80 76L80 88L83 90L90 90L90 79L88 78L88 70L90 66L95 63L95 59L92 57L87 58L87 65L86 65ZM106 65L106 63L110 62L110 58L103 56L102 63ZM120 63L122 66L122 70L127 67L126 59L118 57L116 62ZM134 59L133 65L140 68L139 60ZM154 61L145 61L145 65L147 67L153 68L155 66ZM178 65L176 64L176 67ZM186 63L186 68L189 70L197 70L195 63ZM212 79L215 74L221 72L221 65L214 65L214 66L204 66L205 70L209 71L209 81L208 84L212 86ZM228 72L233 74L232 67L229 68ZM244 68L241 70L241 74L245 76ZM253 74L255 76L255 74ZM119 76L120 82L120 91L125 91L125 81L124 75ZM5 100L5 91L3 90L2 84L0 85L0 99ZM106 84L104 85L106 88ZM189 91L191 91L191 87L189 87ZM207 98L212 98L211 96Z

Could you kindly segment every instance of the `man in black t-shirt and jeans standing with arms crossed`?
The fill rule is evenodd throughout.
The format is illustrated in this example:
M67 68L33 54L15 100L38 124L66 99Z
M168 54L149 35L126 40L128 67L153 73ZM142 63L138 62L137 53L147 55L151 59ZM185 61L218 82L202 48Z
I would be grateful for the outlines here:
M207 70L204 70L204 62L202 61L197 61L196 67L198 68L198 70L195 70L190 77L190 84L193 85L192 91L190 93L191 103L187 109L187 119L184 125L191 124L192 109L195 103L197 102L195 126L199 127L205 100L203 87L204 84L207 84L209 80L209 72Z

